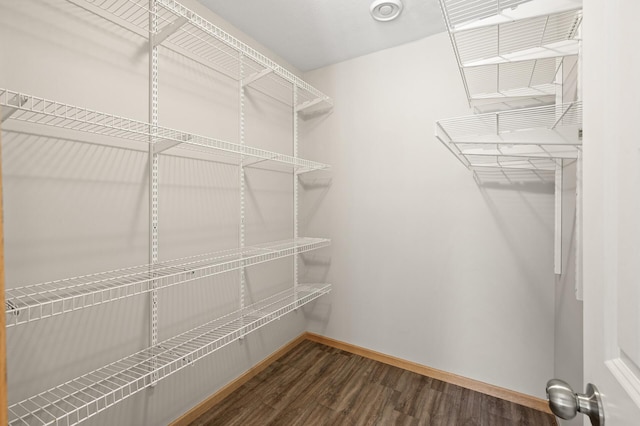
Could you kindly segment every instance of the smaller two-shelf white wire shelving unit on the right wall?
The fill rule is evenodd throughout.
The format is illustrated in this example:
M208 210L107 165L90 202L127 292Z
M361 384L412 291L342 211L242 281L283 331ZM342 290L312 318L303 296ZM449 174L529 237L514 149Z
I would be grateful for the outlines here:
M440 7L476 114L436 122L436 137L480 185L554 182L560 274L563 167L581 161L582 103L559 102L568 76L578 75L582 0L440 0Z

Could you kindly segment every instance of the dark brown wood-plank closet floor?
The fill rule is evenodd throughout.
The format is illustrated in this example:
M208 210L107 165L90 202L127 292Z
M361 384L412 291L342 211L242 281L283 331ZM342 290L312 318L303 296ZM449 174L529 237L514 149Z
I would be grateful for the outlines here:
M307 340L191 425L557 423L531 408Z

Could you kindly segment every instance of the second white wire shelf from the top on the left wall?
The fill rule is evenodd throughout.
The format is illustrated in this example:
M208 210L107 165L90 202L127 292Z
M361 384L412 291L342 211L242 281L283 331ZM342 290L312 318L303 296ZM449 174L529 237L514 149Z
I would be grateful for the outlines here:
M0 106L3 107L2 120L12 119L73 130L83 133L154 143L160 153L174 147L190 149L210 154L222 154L243 158L245 166L271 161L293 167L298 173L313 170L327 170L329 165L292 157L285 154L254 148L247 145L226 142L220 139L186 133L167 127L153 127L149 123L93 111L61 102L0 88ZM152 130L157 130L152 132Z

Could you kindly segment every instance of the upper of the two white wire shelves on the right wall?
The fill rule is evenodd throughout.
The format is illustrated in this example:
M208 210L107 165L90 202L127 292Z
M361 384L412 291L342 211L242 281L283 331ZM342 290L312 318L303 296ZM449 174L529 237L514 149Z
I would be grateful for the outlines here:
M580 1L440 0L440 6L471 106L555 101L558 58L579 52Z

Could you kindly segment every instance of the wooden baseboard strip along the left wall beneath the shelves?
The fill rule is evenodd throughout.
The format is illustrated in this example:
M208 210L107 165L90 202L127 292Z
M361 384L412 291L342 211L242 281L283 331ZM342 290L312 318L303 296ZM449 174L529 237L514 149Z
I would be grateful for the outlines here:
M257 376L261 371L265 368L273 364L278 358L281 358L287 352L291 351L291 349L298 346L307 338L307 333L302 333L289 343L282 346L280 349L276 350L274 353L260 361L258 364L254 365L246 372L244 372L241 376L234 379L233 381L227 383L224 387L218 390L216 393L200 402L198 405L193 407L191 410L187 411L182 416L178 417L174 420L169 426L188 426L190 423L195 421L198 417L209 411L213 408L217 403L225 399L229 394L234 392L240 386L247 383L249 380Z

